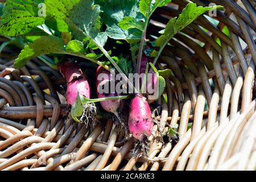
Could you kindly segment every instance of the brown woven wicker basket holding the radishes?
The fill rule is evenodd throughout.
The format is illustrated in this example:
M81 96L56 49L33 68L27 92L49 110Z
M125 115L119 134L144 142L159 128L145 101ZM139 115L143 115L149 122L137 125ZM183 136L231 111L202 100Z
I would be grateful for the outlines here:
M133 139L123 140L112 120L85 126L66 119L60 73L39 60L14 69L17 51L6 49L0 60L0 170L255 170L256 2L193 2L222 5L225 13L213 17L217 26L200 16L160 57L159 67L175 76L167 81L167 104L158 101L158 120L179 124L176 145L151 137L147 157L134 155ZM173 0L158 9L151 35L185 5Z

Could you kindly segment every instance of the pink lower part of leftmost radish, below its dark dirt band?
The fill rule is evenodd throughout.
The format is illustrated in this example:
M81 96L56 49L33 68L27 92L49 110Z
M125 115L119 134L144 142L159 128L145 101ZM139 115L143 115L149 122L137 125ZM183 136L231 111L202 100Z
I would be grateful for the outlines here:
M82 77L79 80L73 80L68 83L66 100L69 105L73 105L76 102L77 92L86 98L90 98L90 86L86 78Z

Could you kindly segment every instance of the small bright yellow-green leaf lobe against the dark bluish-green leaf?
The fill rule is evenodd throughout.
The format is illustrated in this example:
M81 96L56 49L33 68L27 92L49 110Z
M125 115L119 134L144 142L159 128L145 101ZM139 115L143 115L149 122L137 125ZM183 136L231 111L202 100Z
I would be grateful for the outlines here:
M138 28L143 31L144 23L134 17L126 16L121 22L118 23L118 26L123 30L129 30L130 28Z

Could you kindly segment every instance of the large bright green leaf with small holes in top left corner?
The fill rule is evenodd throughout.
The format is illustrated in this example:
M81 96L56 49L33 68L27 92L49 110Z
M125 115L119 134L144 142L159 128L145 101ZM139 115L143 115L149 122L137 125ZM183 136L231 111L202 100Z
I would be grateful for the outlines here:
M44 17L39 16L39 3L43 0L8 0L3 7L0 34L18 36L27 34L40 24Z

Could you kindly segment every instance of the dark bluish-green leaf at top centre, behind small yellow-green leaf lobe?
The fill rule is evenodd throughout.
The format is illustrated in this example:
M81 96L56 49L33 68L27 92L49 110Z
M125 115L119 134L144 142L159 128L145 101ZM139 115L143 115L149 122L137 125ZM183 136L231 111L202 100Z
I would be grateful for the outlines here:
M126 39L129 32L118 26L126 16L139 18L138 0L112 0L103 7L103 22L106 32L112 39Z

